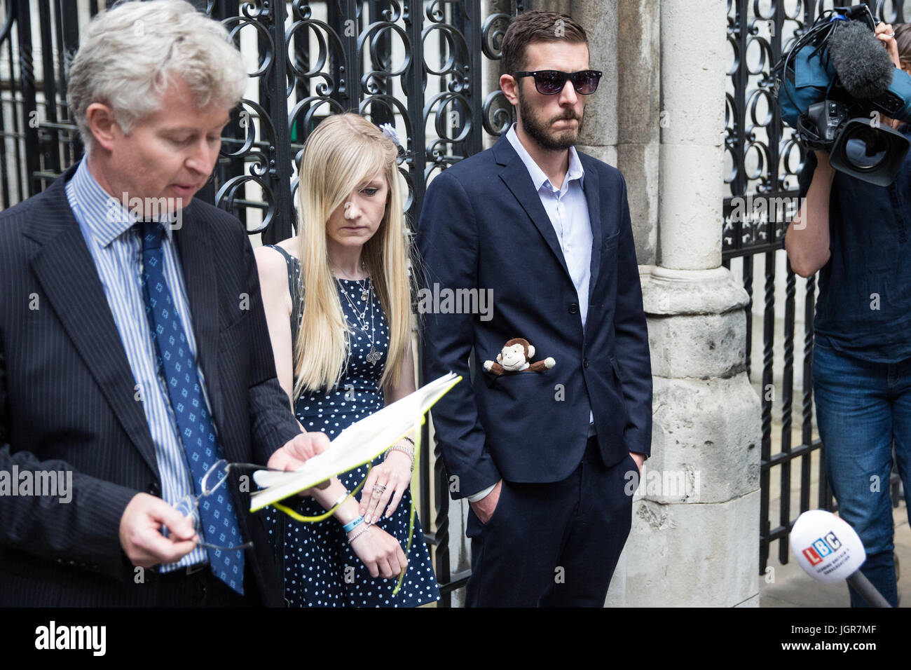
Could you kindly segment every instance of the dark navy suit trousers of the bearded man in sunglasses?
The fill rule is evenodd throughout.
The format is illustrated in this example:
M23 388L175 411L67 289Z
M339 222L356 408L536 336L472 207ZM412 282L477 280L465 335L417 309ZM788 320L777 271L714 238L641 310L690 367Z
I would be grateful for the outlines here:
M504 479L493 516L468 511L469 607L601 607L630 534L632 457L605 467L597 438L568 478Z

